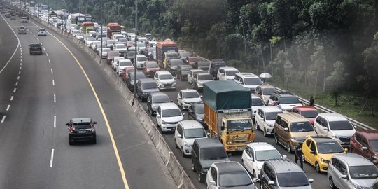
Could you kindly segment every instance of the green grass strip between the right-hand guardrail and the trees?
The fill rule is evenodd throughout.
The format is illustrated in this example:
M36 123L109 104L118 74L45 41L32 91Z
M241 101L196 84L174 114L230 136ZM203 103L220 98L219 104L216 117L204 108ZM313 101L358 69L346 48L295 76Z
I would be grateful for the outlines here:
M279 87L282 90L286 90L286 83L283 84L282 80L270 78L267 80L267 83ZM322 86L318 86L316 95L314 95L315 92L313 86L305 85L304 83L300 83L293 79L289 81L288 86L289 92L308 100L309 97L314 96L315 104L319 104L336 111L337 113L341 113L349 118L357 120L360 123L365 123L370 127L378 129L378 100L376 100L374 105L372 105L371 102L367 102L365 105L366 98L363 94L358 92L342 92L338 99L339 106L335 106L335 99L332 99L329 92L323 92L322 90ZM364 105L365 108L363 108ZM375 107L374 116L370 115L372 106ZM362 109L363 111L361 111Z

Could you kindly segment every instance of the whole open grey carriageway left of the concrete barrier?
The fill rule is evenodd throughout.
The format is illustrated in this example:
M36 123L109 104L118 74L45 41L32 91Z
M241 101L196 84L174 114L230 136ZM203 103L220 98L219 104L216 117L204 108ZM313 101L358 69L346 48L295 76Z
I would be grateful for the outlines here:
M5 20L5 21L4 21ZM6 24L8 22L9 26ZM0 18L0 188L176 188L151 139L115 85L61 35L13 34ZM17 36L17 37L16 37ZM43 55L29 55L29 43ZM97 121L97 144L69 146L65 123Z

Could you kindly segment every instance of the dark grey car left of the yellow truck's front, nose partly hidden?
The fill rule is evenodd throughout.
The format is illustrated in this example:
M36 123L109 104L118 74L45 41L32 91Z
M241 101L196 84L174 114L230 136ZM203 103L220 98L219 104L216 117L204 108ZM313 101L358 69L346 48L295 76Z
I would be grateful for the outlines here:
M214 162L230 161L218 139L196 139L192 147L192 170L198 173L198 181L204 183L207 171Z

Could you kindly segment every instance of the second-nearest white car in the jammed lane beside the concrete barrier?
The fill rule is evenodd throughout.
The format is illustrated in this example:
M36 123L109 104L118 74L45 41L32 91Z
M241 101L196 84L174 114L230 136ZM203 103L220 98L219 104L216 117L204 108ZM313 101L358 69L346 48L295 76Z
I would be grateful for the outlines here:
M183 120L183 115L179 106L173 102L159 104L156 110L156 122L161 132L176 130L177 123Z

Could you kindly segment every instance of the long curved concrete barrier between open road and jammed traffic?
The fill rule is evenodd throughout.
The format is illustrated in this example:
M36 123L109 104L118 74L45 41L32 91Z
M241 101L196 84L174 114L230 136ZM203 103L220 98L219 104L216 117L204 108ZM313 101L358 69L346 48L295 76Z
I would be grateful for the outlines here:
M160 157L162 158L163 162L165 163L165 166L169 170L169 173L171 174L172 178L174 179L177 188L195 188L193 182L189 179L188 174L186 174L185 170L180 165L176 156L174 155L174 153L172 153L168 144L165 142L164 137L162 137L162 134L160 134L158 128L153 123L153 120L150 118L150 116L148 116L148 114L144 110L143 106L139 103L139 101L137 99L134 99L134 94L130 92L130 90L123 82L122 78L117 76L113 69L111 69L111 67L108 66L106 62L102 61L101 57L94 53L92 49L88 48L85 45L85 43L83 43L83 41L80 42L77 38L65 33L64 31L61 31L57 27L48 25L47 22L41 20L35 21L41 22L43 25L45 25L45 27L48 27L56 31L59 34L62 34L64 37L66 37L73 43L76 43L76 45L80 46L80 48L82 48L85 52L88 53L88 55L90 55L90 57L93 59L93 62L97 63L94 65L100 66L104 70L106 76L108 76L108 78L111 79L111 81L116 85L118 91L125 98L125 102L127 102L126 106L129 106L130 109L134 111L137 118L139 118L139 120L141 121L141 125L143 125L148 136L151 138L151 141L153 141L153 144L155 145L156 149L158 150L158 153L160 154Z

